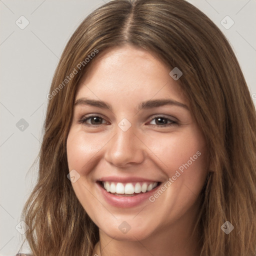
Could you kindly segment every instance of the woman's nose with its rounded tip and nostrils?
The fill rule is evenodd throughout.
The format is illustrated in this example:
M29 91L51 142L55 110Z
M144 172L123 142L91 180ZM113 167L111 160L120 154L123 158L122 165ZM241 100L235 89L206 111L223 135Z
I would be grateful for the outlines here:
M105 160L118 167L143 162L146 146L132 126L123 131L116 127L116 132L106 145Z

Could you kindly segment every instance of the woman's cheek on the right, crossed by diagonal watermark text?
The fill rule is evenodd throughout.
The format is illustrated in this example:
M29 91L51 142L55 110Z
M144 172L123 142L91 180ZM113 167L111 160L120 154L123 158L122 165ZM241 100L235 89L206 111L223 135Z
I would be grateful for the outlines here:
M167 177L164 187L150 198L155 208L165 205L159 215L166 222L185 213L194 205L207 176L207 148L198 129L189 128L182 132L152 138L148 146L157 155L157 162ZM148 140L148 143L149 140Z

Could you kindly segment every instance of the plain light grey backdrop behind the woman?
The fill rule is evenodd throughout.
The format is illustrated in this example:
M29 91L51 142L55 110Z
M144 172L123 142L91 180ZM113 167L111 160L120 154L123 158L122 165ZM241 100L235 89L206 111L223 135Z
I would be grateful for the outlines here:
M0 255L14 255L15 229L36 180L50 82L61 52L78 24L106 0L0 0ZM189 0L224 32L256 105L256 0ZM23 15L29 24L20 29ZM226 29L228 15L234 24ZM230 20L222 22L230 24ZM24 20L22 21L24 24ZM202 23L203 26L203 23ZM28 123L21 131L16 123Z

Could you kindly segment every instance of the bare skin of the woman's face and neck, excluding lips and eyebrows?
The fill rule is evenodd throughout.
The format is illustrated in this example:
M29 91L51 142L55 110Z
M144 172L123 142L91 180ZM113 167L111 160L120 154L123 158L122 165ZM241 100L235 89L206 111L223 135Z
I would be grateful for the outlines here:
M207 150L189 102L169 72L152 53L126 44L99 53L78 85L75 101L82 97L102 100L112 108L75 105L67 137L69 170L80 174L72 183L74 192L99 227L94 252L98 255L199 255L200 234L191 234L207 175ZM149 99L172 99L188 109L170 104L136 109ZM79 122L91 114L102 119L96 119L96 124L92 118ZM156 114L163 119L159 121ZM122 118L131 123L126 131L118 127ZM162 126L161 121L170 125ZM112 206L95 183L110 175L164 183L197 151L200 156L154 202ZM118 228L123 221L131 227L125 234Z

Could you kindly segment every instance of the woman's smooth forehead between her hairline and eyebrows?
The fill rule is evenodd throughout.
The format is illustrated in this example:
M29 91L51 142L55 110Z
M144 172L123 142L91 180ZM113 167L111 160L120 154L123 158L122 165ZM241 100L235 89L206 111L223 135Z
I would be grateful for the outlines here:
M187 101L169 72L169 67L145 49L115 47L99 52L88 65L78 84L76 99L91 95L122 103L153 97Z

